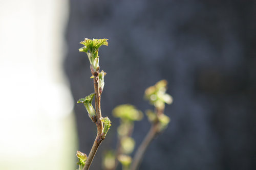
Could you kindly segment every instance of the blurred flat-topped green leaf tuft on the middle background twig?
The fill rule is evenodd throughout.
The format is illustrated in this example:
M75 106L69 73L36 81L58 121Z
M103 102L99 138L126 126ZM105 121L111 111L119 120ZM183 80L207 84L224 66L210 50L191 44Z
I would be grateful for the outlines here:
M143 118L143 114L136 107L129 104L119 105L114 108L113 115L121 118L123 121L138 121Z

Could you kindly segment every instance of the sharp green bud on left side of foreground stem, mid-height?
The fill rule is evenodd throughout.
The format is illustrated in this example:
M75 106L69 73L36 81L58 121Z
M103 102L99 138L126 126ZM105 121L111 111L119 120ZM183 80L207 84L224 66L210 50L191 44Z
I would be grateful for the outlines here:
M83 103L84 107L86 107L89 117L93 120L93 122L96 122L96 113L92 106L92 100L94 95L95 93L92 93L85 98L81 98L77 101L77 103Z

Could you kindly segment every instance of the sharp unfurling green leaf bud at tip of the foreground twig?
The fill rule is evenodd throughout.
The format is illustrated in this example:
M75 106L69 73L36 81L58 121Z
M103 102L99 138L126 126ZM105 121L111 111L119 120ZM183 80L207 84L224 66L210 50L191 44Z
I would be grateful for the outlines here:
M88 39L80 42L84 46L79 48L79 52L87 53L90 64L93 66L93 71L97 71L99 68L99 56L98 51L101 45L108 46L108 39Z

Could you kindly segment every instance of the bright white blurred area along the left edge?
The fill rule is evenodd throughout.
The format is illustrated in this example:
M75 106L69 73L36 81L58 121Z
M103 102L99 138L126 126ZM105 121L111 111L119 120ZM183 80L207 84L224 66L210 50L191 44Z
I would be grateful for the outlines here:
M75 169L68 0L0 0L0 169Z

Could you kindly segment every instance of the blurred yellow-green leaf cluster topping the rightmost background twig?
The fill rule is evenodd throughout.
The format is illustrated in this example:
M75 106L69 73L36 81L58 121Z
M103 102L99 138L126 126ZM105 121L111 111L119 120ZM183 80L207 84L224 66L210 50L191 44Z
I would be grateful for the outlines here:
M172 104L173 98L171 95L166 93L167 81L161 80L154 86L150 86L145 90L145 99L150 101L158 109L164 108L164 103Z

